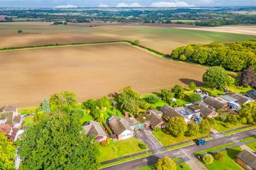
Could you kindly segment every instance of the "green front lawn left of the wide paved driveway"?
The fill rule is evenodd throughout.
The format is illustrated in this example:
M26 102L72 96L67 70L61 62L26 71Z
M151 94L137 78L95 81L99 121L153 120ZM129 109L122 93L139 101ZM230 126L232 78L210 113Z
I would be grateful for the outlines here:
M136 138L125 139L117 142L110 140L110 143L107 146L105 147L102 147L100 145L98 146L98 149L99 149L98 160L99 162L105 162L106 160L115 159L115 158L123 157L126 155L131 155L131 154L145 151L145 149L139 148L139 143L142 143L142 142L140 142Z

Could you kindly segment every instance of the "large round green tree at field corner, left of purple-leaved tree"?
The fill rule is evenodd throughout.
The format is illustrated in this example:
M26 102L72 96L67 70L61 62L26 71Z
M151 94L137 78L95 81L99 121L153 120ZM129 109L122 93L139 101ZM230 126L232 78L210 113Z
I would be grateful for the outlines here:
M210 88L222 88L227 83L228 75L221 66L213 66L206 70L203 82Z

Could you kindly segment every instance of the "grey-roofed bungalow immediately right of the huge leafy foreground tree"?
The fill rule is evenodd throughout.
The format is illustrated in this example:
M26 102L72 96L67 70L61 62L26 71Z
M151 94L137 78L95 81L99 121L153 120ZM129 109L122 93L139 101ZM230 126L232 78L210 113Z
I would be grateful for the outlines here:
M87 135L95 135L95 140L98 142L102 142L103 140L107 139L107 134L104 132L98 122L87 122L84 126L82 126L82 128Z

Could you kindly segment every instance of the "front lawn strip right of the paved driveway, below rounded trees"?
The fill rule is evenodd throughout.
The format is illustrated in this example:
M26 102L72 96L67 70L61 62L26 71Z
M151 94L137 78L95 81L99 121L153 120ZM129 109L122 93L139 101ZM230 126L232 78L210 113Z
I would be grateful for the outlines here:
M153 131L153 134L163 144L163 146L173 145L175 143L179 143L179 142L183 142L183 141L187 141L187 140L198 139L198 138L205 137L206 135L208 135L208 134L199 133L195 137L183 136L183 137L175 138L172 135L168 134L166 132L166 129L162 129L161 131L158 131L158 132Z

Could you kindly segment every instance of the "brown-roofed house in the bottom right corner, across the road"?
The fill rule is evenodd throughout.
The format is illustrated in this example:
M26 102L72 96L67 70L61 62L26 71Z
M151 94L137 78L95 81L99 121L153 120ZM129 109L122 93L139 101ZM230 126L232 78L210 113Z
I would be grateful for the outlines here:
M246 170L255 170L256 169L256 155L247 150L241 151L236 156L236 162L242 168Z

